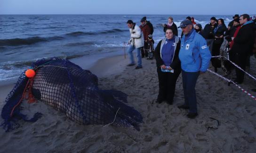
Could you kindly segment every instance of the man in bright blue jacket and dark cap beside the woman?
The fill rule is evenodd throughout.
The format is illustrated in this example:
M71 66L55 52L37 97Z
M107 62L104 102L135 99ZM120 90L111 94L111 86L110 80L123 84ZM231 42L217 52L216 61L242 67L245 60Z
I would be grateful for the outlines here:
M179 59L182 68L182 80L185 103L179 109L189 109L187 117L195 118L197 114L196 81L200 73L207 71L211 53L206 40L192 28L192 22L184 20L180 27L184 35L181 38Z

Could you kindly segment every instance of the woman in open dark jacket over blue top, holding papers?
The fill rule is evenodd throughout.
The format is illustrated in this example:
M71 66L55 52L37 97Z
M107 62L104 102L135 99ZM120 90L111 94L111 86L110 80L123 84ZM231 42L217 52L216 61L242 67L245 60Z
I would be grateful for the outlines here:
M180 39L175 36L172 28L166 29L166 37L162 39L156 49L155 58L159 80L158 103L166 100L168 104L173 103L176 80L181 73L180 60Z

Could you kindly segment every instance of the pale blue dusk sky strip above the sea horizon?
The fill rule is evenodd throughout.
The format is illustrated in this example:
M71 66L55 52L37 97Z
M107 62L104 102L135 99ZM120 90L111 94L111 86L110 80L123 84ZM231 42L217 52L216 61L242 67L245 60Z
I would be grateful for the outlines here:
M256 0L0 0L0 14L256 14Z

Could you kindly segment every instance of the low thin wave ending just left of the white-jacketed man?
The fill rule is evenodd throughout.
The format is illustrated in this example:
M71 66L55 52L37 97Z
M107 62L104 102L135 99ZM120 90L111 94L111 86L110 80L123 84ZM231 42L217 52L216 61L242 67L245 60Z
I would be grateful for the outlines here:
M127 30L111 29L111 30L95 31L95 32L76 31L76 32L67 33L66 35L70 35L70 36L99 35L99 34L109 34L109 33L122 32L122 31L127 31Z

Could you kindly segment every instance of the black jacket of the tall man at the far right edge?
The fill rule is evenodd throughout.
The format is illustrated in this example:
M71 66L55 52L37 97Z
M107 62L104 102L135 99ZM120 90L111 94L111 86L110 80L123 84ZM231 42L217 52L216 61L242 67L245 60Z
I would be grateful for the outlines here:
M234 38L232 51L243 55L251 54L255 40L255 30L256 24L253 22L243 25Z

